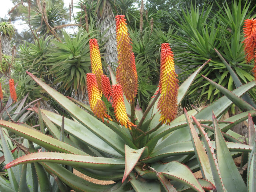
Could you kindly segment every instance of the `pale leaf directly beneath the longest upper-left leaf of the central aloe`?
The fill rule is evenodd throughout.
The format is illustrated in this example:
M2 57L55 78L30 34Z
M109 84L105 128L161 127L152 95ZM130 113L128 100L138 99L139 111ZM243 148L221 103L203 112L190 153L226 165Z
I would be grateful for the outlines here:
M61 126L62 116L47 110L42 110L42 113L45 114L52 122L54 122L58 126ZM111 156L122 157L118 152L116 152L116 150L110 147L102 139L98 138L95 134L93 134L90 130L85 128L82 124L70 120L68 118L64 118L64 124L65 130L68 134L72 135L73 137L79 140L82 140L88 146L96 150L100 150L106 154L110 154Z

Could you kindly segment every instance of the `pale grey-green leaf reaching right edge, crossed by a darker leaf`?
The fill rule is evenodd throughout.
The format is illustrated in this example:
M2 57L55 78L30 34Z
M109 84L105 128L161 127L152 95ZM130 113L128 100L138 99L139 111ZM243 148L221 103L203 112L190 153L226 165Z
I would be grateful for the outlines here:
M240 97L242 96L246 91L250 90L256 86L256 82L252 81L247 84L244 84L235 90L232 91L233 94ZM223 96L222 98L219 98L216 100L216 102L212 103L206 108L203 108L198 114L195 115L197 119L212 119L212 111L214 111L214 114L218 117L222 114L230 105L232 104L232 101L230 101L226 96Z

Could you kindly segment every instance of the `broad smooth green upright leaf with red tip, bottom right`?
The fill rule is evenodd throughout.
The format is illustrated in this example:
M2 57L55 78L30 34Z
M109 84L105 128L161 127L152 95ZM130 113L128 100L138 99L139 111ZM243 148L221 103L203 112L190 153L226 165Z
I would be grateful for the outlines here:
M212 121L214 125L216 155L223 184L227 191L246 192L246 185L244 184L242 176L240 175L234 160L230 155L214 114L212 114Z

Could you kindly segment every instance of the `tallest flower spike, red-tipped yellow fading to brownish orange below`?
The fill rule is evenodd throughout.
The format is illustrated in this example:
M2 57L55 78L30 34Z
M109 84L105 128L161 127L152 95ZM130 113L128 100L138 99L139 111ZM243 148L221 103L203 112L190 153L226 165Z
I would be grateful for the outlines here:
M118 52L118 67L116 68L116 81L123 88L124 95L129 102L133 102L138 92L138 76L134 53L132 52L124 15L116 16L116 41Z

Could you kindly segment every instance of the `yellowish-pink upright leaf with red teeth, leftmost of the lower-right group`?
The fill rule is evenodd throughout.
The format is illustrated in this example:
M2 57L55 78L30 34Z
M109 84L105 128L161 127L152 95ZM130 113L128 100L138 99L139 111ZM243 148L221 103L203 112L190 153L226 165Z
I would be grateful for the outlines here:
M204 150L204 146L202 145L200 138L198 137L198 134L196 132L196 129L194 128L194 125L192 124L190 118L188 117L188 114L185 108L184 108L184 114L188 123L192 144L194 147L196 158L198 160L198 164L200 166L200 170L202 172L202 176L204 179L207 179L210 182L214 183L208 156ZM196 126L200 126L198 121L195 121L195 123L197 124Z

